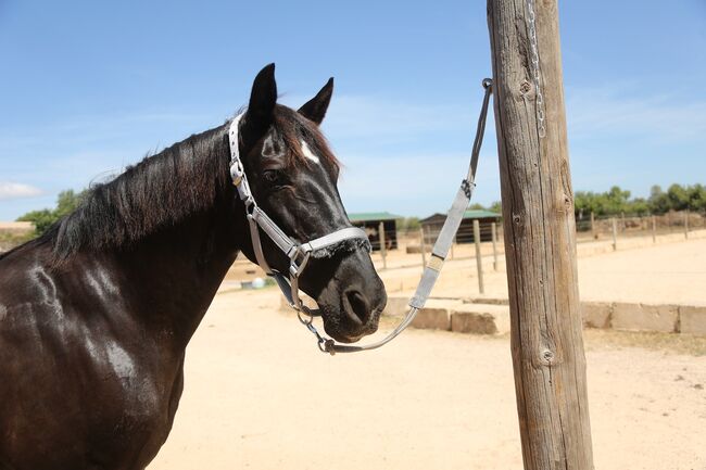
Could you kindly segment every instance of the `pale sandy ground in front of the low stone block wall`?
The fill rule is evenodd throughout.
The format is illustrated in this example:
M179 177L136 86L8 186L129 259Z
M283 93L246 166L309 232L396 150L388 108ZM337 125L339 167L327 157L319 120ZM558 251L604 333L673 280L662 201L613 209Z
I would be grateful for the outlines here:
M507 338L409 330L380 351L330 357L276 310L278 295L216 296L150 470L521 469ZM706 469L706 356L592 334L595 468Z

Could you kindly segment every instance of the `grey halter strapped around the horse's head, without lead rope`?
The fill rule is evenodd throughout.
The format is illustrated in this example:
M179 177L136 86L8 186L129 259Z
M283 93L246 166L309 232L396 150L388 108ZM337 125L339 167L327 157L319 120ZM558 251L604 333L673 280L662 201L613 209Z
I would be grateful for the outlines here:
M330 250L331 247L342 245L343 242L348 240L358 240L358 243L352 244L351 250L355 250L358 246L365 246L370 251L370 242L368 241L367 234L364 230L357 227L345 227L325 234L324 237L310 240L306 243L299 243L291 237L288 237L287 233L285 233L277 224L275 224L275 221L269 218L260 206L257 206L252 191L250 190L250 183L248 182L242 161L240 160L239 126L243 114L240 114L232 119L228 131L228 138L230 140L230 177L232 183L238 189L240 200L245 205L245 215L250 224L250 238L252 240L253 251L255 252L255 258L265 274L277 281L277 284L279 285L279 289L281 289L282 294L285 294L289 305L297 310L299 319L311 330L313 328L312 319L314 316L319 315L319 313L318 310L307 308L299 296L299 277L306 267L310 257L312 257L312 255L314 257L330 255L330 253L333 252ZM262 229L275 245L277 245L277 247L289 258L288 277L276 269L270 268L269 264L267 264L260 241L260 229ZM317 254L319 256L317 256ZM307 315L310 318L302 318L302 313ZM330 341L322 338L318 333L316 334L319 338L319 347L323 347L323 343L326 341Z

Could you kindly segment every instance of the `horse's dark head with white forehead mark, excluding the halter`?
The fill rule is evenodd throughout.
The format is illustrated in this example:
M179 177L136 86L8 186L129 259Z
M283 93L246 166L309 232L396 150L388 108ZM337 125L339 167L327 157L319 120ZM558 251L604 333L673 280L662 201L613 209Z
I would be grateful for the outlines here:
M318 127L332 90L330 79L299 111L279 105L270 64L255 77L241 119L240 152L254 199L299 243L351 227L337 188L339 163ZM287 274L288 257L268 237L261 240L267 264ZM255 262L252 245L244 252ZM312 256L300 288L317 302L326 332L341 342L375 332L387 302L366 245L355 240Z

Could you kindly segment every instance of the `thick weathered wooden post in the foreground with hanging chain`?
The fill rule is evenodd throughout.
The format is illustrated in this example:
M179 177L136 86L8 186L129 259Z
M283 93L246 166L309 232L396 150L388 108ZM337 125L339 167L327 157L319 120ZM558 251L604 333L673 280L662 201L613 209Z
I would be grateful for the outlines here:
M557 0L488 0L488 24L525 469L592 470Z

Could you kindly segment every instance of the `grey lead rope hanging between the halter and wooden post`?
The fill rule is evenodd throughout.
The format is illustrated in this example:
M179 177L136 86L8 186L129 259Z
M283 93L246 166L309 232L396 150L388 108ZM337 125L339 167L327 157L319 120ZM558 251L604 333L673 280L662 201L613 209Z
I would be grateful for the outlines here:
M310 316L308 318L303 318L299 315L299 320L316 336L318 343L318 348L330 355L336 353L357 353L360 351L370 351L377 350L378 347L389 343L394 338L396 338L402 331L404 331L416 317L417 312L421 309L431 294L431 289L433 288L443 263L446 259L451 244L453 243L458 227L464 217L464 213L468 208L470 203L470 196L472 195L474 189L476 188L476 168L478 167L478 155L480 154L480 148L483 143L483 134L486 132L486 117L488 116L488 103L490 102L490 96L493 91L493 80L486 78L482 81L482 87L486 89L486 94L483 96L483 104L480 109L480 116L478 117L478 127L476 129L476 139L474 140L474 148L470 155L470 165L468 166L468 175L461 182L461 188L456 193L451 209L446 215L446 220L444 221L441 232L437 238L437 241L431 249L431 256L429 257L429 263L424 268L421 274L421 279L417 285L417 290L414 296L409 300L409 312L404 317L402 322L390 332L386 338L375 343L365 344L363 346L352 346L348 344L339 344L331 339L327 339L319 334L316 330L316 327L313 325L314 318ZM301 314L298 312L298 314Z

